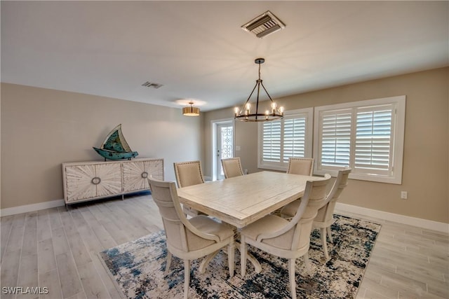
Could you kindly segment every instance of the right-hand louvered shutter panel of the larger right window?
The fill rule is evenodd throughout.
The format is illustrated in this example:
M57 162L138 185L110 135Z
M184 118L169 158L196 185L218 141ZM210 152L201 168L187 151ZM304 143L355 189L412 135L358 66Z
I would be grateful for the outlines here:
M391 171L393 105L357 109L355 169L374 174Z

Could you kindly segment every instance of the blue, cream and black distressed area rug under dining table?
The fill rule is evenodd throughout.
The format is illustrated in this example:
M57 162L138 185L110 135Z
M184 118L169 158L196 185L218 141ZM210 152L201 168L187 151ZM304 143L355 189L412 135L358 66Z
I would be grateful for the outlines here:
M298 298L356 297L380 225L335 215L332 231L334 243L328 242L330 260L326 262L321 251L319 230L311 234L311 270L307 272L302 258L297 259ZM248 250L260 261L262 272L255 273L253 265L247 263L244 279L240 275L239 251L236 251L236 272L232 278L229 278L226 253L220 251L205 274L198 270L201 260L192 261L189 298L290 298L288 261L250 245ZM173 256L170 272L164 276L166 255L163 231L100 253L123 298L182 298L183 262Z

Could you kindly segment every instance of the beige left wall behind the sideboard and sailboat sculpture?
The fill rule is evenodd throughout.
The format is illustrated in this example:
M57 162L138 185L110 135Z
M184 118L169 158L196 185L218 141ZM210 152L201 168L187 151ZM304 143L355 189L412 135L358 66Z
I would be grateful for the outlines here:
M180 109L23 85L1 84L1 209L60 200L62 162L102 160L100 146L119 123L139 158L201 157L201 118Z

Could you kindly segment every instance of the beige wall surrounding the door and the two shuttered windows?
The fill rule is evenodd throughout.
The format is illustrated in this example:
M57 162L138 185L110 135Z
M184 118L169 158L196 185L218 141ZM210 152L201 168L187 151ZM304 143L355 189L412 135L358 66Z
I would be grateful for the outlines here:
M448 67L307 92L276 102L286 109L300 109L396 95L407 96L402 185L351 180L340 202L449 223ZM210 121L232 116L232 107L206 113L203 120L206 175L210 175L211 168ZM241 146L236 156L241 157L243 168L260 171L257 125L237 121L235 144ZM408 191L408 200L401 200L401 190Z

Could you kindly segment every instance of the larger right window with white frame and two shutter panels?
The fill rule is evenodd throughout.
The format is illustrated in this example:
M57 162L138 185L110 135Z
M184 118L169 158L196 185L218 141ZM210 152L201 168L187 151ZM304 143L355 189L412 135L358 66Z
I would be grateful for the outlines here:
M316 107L315 173L401 183L405 113L405 96Z

